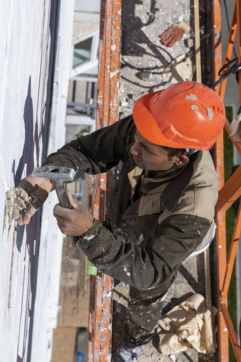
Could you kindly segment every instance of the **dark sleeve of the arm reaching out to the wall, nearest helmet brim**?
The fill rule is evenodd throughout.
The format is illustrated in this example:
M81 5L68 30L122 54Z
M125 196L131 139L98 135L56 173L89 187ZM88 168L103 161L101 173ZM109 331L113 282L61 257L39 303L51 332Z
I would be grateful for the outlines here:
M73 181L85 172L92 175L104 173L126 157L126 141L133 135L134 128L133 118L130 116L89 135L79 136L57 152L51 153L42 166L73 168L76 171Z

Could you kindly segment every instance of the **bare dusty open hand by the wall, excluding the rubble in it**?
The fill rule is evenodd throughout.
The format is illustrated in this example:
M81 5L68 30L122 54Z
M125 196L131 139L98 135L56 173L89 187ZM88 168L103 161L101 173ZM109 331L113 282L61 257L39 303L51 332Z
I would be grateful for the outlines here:
M27 201L28 196L35 196L38 198L38 201L33 203L32 206L27 206L24 215L21 215L21 212L18 210L13 210L13 219L17 220L18 225L28 224L39 206L43 205L44 201L47 199L48 194L52 189L52 182L47 178L36 177L29 174L19 182L18 188L23 189L23 199L25 201ZM30 194L32 192L33 195Z

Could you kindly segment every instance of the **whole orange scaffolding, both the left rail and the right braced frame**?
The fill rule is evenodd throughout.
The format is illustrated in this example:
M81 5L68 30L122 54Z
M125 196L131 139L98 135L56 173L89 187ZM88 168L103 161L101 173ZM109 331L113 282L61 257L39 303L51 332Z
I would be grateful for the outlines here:
M214 82L219 79L222 66L221 55L221 7L220 0L212 0L213 17L213 60ZM230 26L225 63L231 60L233 43L237 30L238 63L241 63L241 0L236 0ZM120 27L121 0L102 0L100 13L100 43L98 70L98 98L96 110L96 128L112 124L118 119L119 110L119 70L120 70ZM227 67L228 68L228 67ZM239 74L240 75L240 74ZM215 91L224 99L227 79L218 85ZM239 77L239 95L241 104L241 76ZM228 135L231 128L226 119L225 129ZM232 139L241 155L241 143ZM241 166L224 184L224 145L223 132L215 145L215 166L219 178L219 198L216 204L216 243L217 243L217 279L218 279L218 333L219 361L228 361L228 335L237 358L241 361L241 349L227 308L227 294L241 232L241 207L239 207L233 232L233 239L226 262L225 212L241 195ZM106 195L113 186L115 175L112 171L96 176L92 194L92 211L95 218L104 221L106 214ZM112 333L112 294L113 280L98 271L91 275L88 362L111 361Z

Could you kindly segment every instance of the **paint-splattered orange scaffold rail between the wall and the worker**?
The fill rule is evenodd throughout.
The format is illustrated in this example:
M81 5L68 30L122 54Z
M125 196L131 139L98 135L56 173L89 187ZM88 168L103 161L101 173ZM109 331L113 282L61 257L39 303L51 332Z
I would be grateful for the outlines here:
M96 129L119 118L121 0L102 0L97 82ZM92 194L93 216L106 217L106 196L115 183L112 170L95 177ZM100 270L90 279L88 362L111 361L113 279Z

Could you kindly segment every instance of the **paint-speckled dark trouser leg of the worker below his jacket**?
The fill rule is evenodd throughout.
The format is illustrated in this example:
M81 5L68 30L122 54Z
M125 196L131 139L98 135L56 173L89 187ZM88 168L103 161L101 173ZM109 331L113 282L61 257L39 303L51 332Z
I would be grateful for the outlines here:
M150 341L158 326L166 292L160 294L158 288L138 290L130 286L125 342L141 345Z

